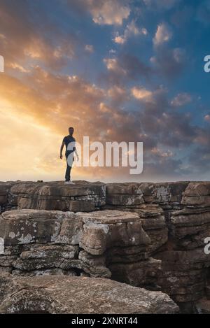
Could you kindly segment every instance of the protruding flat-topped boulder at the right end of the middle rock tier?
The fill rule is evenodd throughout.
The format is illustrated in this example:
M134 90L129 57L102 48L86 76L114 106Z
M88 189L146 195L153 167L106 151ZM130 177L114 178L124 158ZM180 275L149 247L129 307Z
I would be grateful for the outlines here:
M114 210L76 213L76 220L83 222L80 247L92 255L102 255L113 247L127 248L136 245L141 245L146 252L150 243L137 213Z

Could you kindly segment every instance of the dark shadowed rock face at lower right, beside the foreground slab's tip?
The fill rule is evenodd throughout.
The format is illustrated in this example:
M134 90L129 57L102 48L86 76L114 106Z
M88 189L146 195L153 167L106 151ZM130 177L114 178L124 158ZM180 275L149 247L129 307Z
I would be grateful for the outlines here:
M162 259L158 284L177 303L197 301L204 295L210 255L203 250L167 251L157 255Z

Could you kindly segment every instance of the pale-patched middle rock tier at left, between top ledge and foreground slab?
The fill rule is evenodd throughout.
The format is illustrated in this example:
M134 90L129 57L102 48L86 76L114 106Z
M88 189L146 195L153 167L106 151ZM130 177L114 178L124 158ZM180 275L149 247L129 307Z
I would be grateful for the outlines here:
M161 261L136 213L6 211L0 217L1 271L18 276L64 274L114 278L157 289Z

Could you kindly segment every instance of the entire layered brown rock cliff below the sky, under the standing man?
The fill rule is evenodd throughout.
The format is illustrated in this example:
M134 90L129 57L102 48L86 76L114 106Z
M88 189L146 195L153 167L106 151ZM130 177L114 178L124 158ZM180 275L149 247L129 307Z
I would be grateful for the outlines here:
M50 282L77 279L79 292L84 278L96 286L101 278L110 288L117 280L139 287L143 301L150 293L165 293L162 297L168 294L181 312L210 312L210 255L204 252L210 183L8 182L0 183L0 206L0 271L8 285L45 279L45 294ZM132 288L127 285L122 289ZM9 290L3 297L11 302ZM160 294L153 295L158 302ZM134 313L144 313L133 301ZM165 310L151 305L148 313L177 312L173 301L165 305ZM10 306L2 303L0 312L10 312Z

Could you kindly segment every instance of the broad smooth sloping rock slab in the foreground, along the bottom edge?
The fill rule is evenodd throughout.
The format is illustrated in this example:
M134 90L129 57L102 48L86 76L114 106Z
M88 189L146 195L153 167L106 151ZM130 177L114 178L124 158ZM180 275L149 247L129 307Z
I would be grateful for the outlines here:
M103 278L0 276L0 313L178 313L166 294Z

